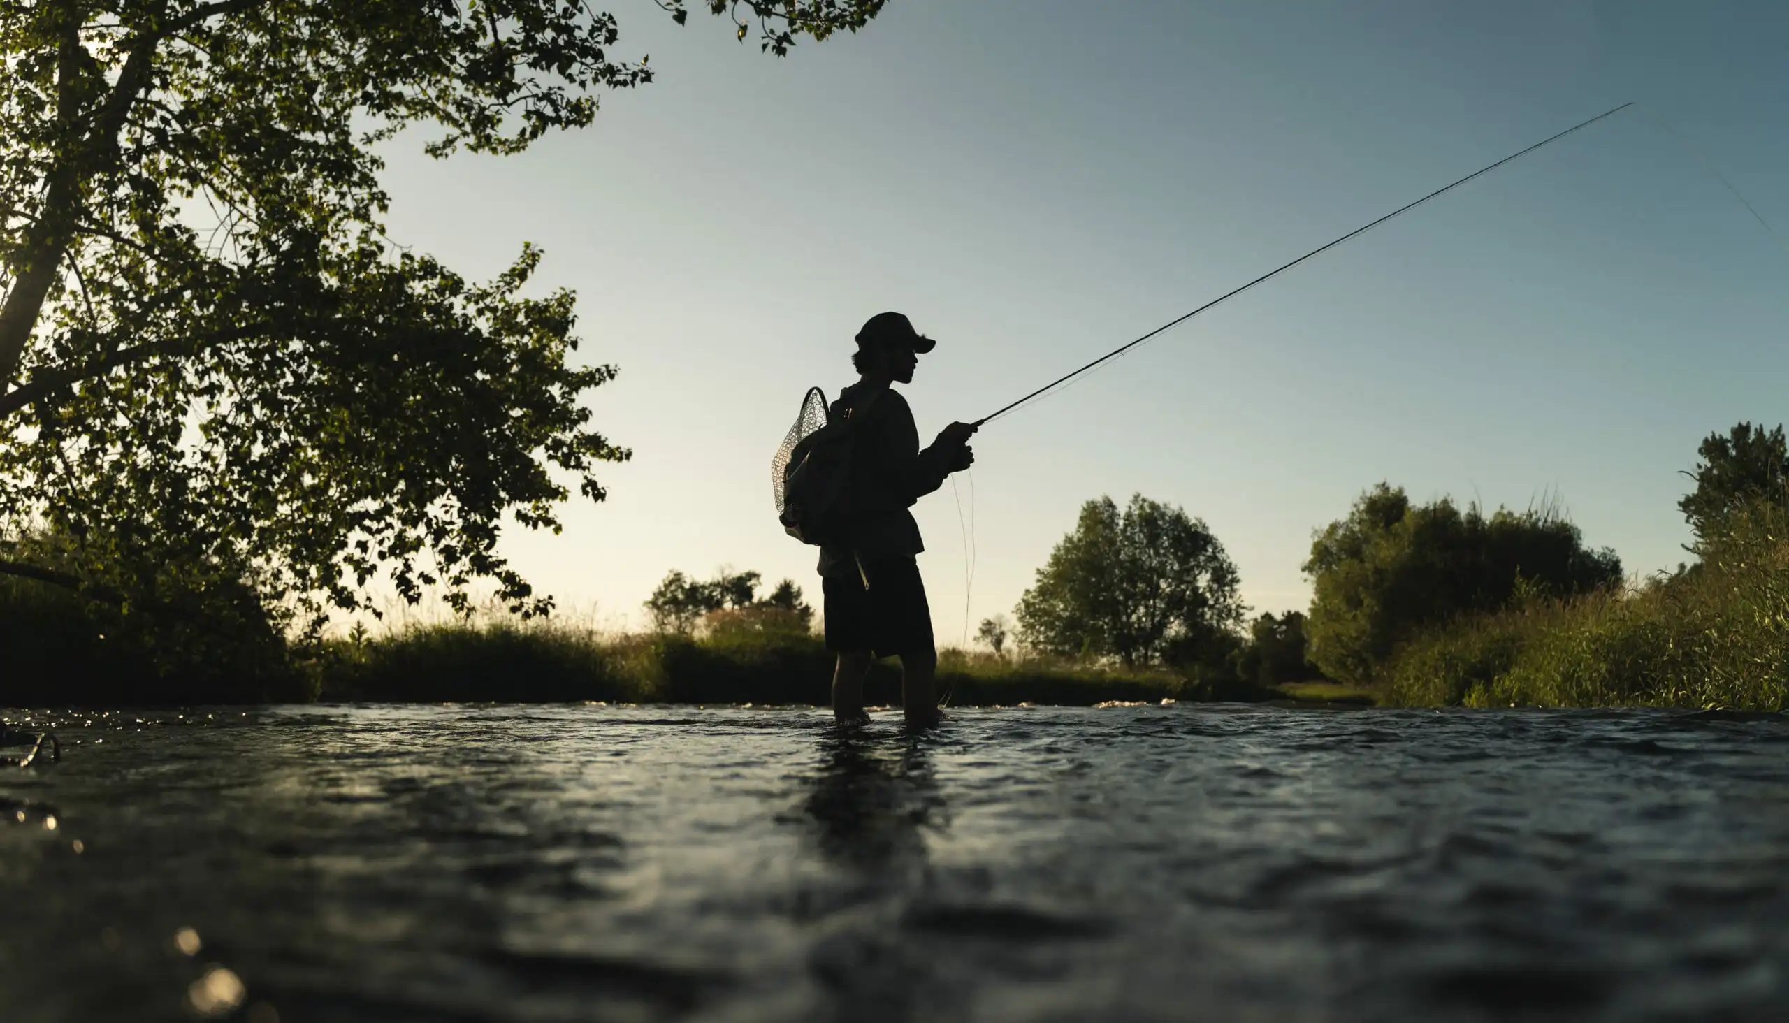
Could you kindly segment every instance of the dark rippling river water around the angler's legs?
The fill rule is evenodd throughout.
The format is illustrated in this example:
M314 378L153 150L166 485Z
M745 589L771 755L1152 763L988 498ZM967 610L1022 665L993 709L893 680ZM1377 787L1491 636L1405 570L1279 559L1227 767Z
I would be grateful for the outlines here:
M1789 723L23 714L9 1023L1784 1019Z

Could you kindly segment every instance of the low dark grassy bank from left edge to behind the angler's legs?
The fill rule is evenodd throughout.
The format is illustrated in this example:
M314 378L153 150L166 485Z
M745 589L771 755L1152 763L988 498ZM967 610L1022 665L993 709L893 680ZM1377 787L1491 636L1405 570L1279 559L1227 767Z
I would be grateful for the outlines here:
M199 637L206 640L208 637ZM733 630L705 637L614 635L571 622L422 624L292 647L277 669L242 671L204 642L170 656L116 608L0 576L0 706L131 706L286 701L830 703L819 637ZM1233 680L1120 671L1045 658L943 651L939 694L954 706L1242 699L1283 694ZM868 681L900 703L896 662Z

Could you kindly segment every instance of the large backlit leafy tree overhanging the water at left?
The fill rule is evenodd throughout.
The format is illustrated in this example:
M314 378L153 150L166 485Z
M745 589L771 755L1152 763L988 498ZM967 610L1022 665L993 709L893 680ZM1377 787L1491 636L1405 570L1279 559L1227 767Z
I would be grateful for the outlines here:
M701 5L782 55L882 2ZM653 77L615 41L581 0L0 4L0 571L252 583L311 626L381 574L547 610L497 538L556 529L562 479L603 499L628 451L581 397L615 370L569 363L535 249L476 284L390 241L374 147L583 127Z

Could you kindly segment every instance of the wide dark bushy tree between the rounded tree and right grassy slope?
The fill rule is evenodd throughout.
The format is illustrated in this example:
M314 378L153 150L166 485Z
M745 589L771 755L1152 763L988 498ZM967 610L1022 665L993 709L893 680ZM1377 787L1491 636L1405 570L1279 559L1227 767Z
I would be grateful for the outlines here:
M1311 660L1363 685L1417 631L1506 606L1519 594L1573 596L1619 585L1621 558L1589 551L1556 508L1485 517L1449 499L1412 504L1379 483L1311 540Z

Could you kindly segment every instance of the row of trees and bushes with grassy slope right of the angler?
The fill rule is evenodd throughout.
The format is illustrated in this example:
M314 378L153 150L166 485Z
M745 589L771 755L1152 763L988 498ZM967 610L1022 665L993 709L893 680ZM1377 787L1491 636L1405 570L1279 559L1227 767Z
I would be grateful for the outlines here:
M1238 628L1236 572L1202 520L1106 501L1018 606L1038 649L1258 683L1329 678L1403 705L1782 710L1789 680L1789 445L1707 436L1678 503L1694 560L1630 581L1549 503L1410 501L1379 483L1318 529L1311 604Z

